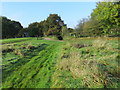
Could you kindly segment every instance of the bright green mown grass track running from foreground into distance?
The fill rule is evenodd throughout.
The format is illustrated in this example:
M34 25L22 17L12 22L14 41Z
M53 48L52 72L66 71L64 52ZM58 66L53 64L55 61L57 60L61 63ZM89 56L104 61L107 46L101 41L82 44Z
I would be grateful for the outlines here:
M33 41L34 44L38 43L37 40ZM14 63L11 63L12 60L8 60L9 63L4 65L3 88L50 87L51 75L54 73L54 65L57 62L62 43L47 40L39 42L41 44L34 50L28 50L25 57L13 59Z

